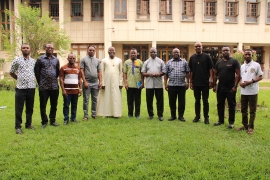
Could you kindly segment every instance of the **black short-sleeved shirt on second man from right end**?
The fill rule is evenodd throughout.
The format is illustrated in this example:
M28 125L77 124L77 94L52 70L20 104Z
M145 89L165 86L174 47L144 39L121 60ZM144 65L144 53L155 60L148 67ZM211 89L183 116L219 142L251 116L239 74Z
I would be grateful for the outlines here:
M220 59L216 65L215 70L218 71L218 86L221 89L226 89L230 91L235 83L235 70L240 70L240 63L230 57L227 61Z

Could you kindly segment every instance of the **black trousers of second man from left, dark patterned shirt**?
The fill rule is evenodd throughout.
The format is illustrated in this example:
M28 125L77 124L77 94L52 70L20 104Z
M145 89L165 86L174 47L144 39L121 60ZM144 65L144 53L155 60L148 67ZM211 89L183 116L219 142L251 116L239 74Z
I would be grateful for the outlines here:
M48 123L48 116L46 114L46 106L48 99L50 98L50 123L55 122L56 111L57 111L57 102L58 102L59 90L44 90L39 91L39 102L40 102L40 115L41 115L41 124Z

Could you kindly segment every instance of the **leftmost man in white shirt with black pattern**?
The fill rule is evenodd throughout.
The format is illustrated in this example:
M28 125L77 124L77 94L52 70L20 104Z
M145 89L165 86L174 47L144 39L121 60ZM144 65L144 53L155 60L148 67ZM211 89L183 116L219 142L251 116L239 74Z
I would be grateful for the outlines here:
M22 111L26 105L26 129L35 129L32 126L32 115L35 99L35 60L30 57L30 45L21 46L23 56L13 60L10 75L17 80L15 93L15 129L16 134L22 134Z

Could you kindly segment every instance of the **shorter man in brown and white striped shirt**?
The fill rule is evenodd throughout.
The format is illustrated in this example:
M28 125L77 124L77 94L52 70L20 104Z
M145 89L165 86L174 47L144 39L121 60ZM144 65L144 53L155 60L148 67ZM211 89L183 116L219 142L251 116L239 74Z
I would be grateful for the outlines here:
M64 125L67 125L69 120L77 122L77 103L78 96L82 93L82 81L81 72L78 67L75 66L76 57L74 54L68 55L68 64L64 65L60 69L60 85L64 98L63 113L64 113ZM69 118L69 105L71 103L71 116Z

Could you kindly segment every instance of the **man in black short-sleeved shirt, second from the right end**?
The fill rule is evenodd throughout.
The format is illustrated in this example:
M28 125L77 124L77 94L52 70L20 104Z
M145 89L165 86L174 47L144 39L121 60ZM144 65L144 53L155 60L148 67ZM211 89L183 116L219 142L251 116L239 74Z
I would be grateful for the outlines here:
M240 64L236 59L230 57L230 48L222 47L223 58L220 59L214 68L214 87L213 91L217 93L218 122L214 126L224 124L225 100L229 105L229 126L234 127L235 108L236 108L236 90L240 79ZM218 87L216 81L218 77Z

